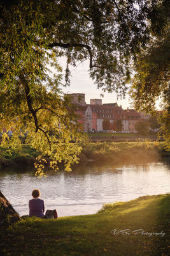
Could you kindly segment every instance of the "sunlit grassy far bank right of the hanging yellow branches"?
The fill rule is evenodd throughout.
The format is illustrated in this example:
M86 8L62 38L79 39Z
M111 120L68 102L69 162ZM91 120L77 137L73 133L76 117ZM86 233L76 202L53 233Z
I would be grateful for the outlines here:
M135 142L96 142L83 145L81 161L110 161L110 163L139 163L139 161L154 161L162 154L163 143L159 141Z

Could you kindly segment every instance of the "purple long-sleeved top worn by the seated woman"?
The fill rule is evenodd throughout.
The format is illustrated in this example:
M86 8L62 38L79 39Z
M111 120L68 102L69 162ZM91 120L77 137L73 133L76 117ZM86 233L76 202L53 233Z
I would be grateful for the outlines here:
M41 199L29 200L29 216L41 217L44 216L45 204Z

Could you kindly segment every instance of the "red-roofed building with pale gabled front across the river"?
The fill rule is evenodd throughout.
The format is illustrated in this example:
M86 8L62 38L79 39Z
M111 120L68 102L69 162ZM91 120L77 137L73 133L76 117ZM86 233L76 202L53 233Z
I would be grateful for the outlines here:
M74 102L77 104L79 96L81 99L81 109L76 113L80 115L80 122L83 124L84 131L101 131L103 129L111 129L113 131L130 131L135 132L136 122L143 121L142 116L134 109L122 109L116 103L107 103L101 105L101 100L93 99L92 104L85 104L85 95L81 93L72 93ZM107 128L106 128L107 127Z

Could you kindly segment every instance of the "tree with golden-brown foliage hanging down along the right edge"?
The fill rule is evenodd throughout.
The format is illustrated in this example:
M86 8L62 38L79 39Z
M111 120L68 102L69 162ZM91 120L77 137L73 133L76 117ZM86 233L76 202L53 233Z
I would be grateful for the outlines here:
M130 95L134 99L134 108L156 115L155 102L162 97L162 115L160 115L160 131L169 150L169 117L170 117L170 3L160 1L155 9L159 17L159 24L153 22L155 15L152 13L152 36L145 50L138 56L134 69L136 74L132 80ZM167 120L166 120L167 118Z

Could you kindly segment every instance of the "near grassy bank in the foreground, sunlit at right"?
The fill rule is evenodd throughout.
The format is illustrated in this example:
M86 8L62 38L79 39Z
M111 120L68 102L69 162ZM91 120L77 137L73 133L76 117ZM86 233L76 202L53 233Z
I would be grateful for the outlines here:
M1 255L167 256L169 212L170 195L157 195L104 205L92 215L27 218L6 230Z

